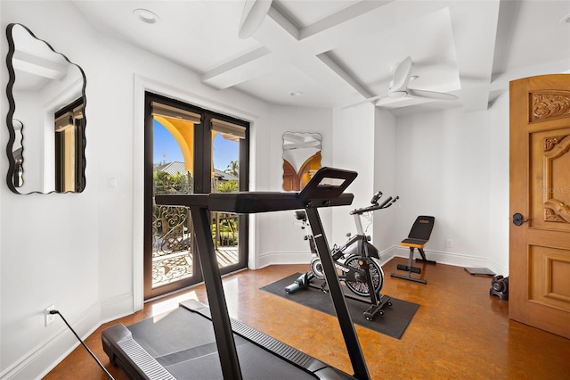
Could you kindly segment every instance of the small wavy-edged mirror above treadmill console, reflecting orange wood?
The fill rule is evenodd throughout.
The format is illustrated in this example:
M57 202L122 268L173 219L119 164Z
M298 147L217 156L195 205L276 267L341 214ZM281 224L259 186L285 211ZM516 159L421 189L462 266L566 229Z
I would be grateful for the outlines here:
M283 134L283 190L300 191L321 169L321 142L318 133Z

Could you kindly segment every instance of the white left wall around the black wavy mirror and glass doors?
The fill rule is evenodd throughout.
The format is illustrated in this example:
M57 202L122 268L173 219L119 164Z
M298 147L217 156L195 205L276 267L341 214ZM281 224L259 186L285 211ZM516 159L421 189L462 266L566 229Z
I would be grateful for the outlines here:
M251 166L259 183L252 189L278 189L268 179L274 170L266 160L272 154L267 138L273 136L265 131L273 112L261 101L203 86L189 70L98 35L69 2L3 1L0 6L2 29L10 22L26 25L77 62L87 77L85 192L23 196L0 186L0 377L29 379L41 376L77 345L61 321L44 326L45 307L54 303L85 336L106 319L133 312L141 293L134 284L140 277L134 267L142 258L134 244L141 207L136 201L142 192L136 182L142 177L142 161L135 155L142 152L142 124L135 124L140 120L134 112L140 106L134 103L140 95L134 91L135 77L149 78L169 95L251 120L252 140L260 147L259 153L253 147ZM4 56L6 51L2 38ZM7 70L0 72L0 87L5 88ZM1 99L5 115L7 99ZM0 130L0 145L5 146L8 132ZM281 144L281 137L275 144ZM0 172L7 172L5 159ZM108 185L110 178L116 186ZM256 234L272 230L257 224ZM277 251L272 244L265 249Z

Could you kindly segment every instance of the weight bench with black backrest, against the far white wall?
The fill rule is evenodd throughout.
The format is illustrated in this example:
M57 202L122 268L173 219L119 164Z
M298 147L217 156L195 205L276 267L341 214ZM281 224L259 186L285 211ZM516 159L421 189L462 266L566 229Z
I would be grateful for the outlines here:
M419 216L411 227L410 234L406 239L403 239L400 245L404 247L410 247L410 259L408 260L408 265L398 264L398 270L403 270L407 272L405 276L392 273L391 277L403 278L404 280L416 281L422 284L428 284L428 281L411 277L412 273L421 273L421 268L413 267L413 252L417 248L421 259L416 259L419 262L425 262L428 264L436 264L436 261L426 259L426 253L424 252L424 245L429 241L429 236L431 235L432 229L434 229L434 222L436 218L428 216Z

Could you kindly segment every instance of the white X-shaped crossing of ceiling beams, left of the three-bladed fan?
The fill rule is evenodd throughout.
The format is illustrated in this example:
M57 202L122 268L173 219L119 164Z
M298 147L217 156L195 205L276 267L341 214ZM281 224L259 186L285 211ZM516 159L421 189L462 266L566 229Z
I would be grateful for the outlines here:
M334 72L345 86L366 94L368 92L356 79L350 78L346 70L331 62L330 57L320 54L325 54L338 44L348 44L362 33L379 33L410 17L410 14L401 14L401 10L395 6L385 11L390 4L397 2L359 2L303 29L297 29L293 22L272 6L268 17L253 35L264 47L208 71L203 74L202 82L224 89L268 74L271 70L293 65L325 88L338 88L338 83L331 86L330 75L326 75ZM411 7L411 13L423 14L439 8L441 5L434 2L422 2ZM268 62L271 69L266 69Z

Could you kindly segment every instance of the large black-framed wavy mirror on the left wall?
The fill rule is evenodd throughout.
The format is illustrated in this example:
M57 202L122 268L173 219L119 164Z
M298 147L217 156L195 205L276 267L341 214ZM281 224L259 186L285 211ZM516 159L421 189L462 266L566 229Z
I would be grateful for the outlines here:
M6 29L10 131L7 184L16 194L85 189L85 72L27 27Z

